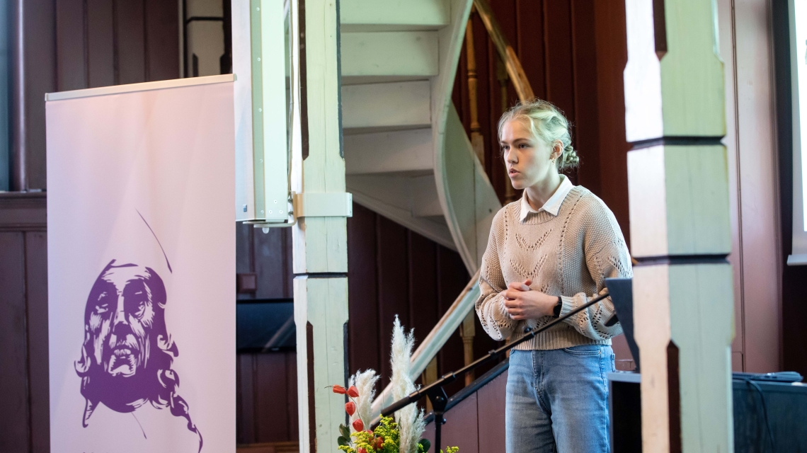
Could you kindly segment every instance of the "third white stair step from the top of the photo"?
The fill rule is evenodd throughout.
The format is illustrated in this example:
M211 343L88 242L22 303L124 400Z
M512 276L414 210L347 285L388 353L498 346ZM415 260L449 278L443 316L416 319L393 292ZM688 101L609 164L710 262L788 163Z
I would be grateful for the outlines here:
M345 133L426 128L431 124L429 81L342 86Z

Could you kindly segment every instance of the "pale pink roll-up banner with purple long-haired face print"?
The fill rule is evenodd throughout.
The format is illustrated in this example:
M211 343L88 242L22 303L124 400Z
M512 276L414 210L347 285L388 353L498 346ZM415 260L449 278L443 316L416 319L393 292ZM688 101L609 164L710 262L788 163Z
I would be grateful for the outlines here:
M234 452L232 75L46 99L51 451Z

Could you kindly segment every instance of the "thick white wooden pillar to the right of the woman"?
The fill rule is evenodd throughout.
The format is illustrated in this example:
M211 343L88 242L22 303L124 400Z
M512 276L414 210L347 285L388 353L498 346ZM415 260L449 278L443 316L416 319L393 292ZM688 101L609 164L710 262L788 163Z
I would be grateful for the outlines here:
M733 451L723 63L710 0L626 0L644 451Z

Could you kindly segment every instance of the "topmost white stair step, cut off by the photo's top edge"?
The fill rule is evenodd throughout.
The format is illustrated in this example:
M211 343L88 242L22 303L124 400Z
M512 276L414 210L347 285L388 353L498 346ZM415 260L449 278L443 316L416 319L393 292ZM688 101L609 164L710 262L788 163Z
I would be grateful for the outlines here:
M437 30L450 22L447 0L342 0L341 31Z

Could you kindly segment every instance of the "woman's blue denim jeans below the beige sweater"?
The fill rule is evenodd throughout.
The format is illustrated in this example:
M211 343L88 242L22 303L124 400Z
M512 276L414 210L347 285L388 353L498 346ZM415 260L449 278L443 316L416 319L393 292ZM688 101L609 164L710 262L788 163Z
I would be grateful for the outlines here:
M508 453L602 453L608 443L611 346L513 350L507 379Z

